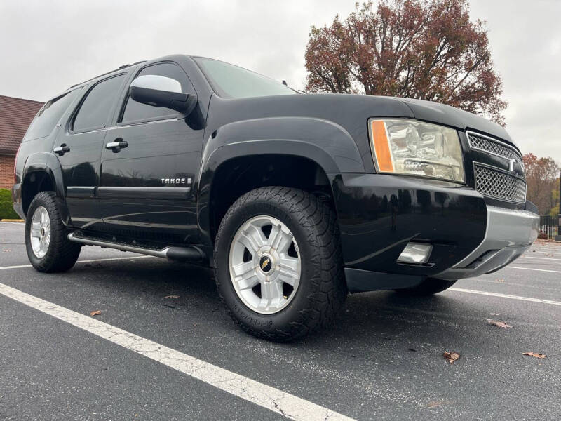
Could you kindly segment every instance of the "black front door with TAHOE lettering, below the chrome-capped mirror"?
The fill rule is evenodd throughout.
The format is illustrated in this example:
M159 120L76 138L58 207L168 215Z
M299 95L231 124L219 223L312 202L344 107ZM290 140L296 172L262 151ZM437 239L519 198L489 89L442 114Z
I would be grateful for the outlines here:
M194 92L182 67L159 62L136 74L179 81ZM103 226L115 236L156 243L196 243L196 203L192 191L201 165L203 128L185 116L128 98L102 151L97 190Z

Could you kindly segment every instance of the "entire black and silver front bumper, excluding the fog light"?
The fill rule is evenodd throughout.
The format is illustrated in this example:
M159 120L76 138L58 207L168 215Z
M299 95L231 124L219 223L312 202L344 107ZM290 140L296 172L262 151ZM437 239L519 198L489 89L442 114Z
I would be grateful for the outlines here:
M493 272L524 253L538 234L539 216L529 202L518 209L498 207L471 187L438 180L328 177L351 292ZM428 262L398 262L410 241L433 246Z

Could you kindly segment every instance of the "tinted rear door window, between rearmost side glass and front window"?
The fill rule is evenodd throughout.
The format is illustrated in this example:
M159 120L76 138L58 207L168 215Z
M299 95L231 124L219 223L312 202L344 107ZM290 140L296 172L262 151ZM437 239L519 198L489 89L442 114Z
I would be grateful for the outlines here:
M124 76L124 74L119 74L119 76L105 79L90 89L74 118L73 131L88 131L105 127Z

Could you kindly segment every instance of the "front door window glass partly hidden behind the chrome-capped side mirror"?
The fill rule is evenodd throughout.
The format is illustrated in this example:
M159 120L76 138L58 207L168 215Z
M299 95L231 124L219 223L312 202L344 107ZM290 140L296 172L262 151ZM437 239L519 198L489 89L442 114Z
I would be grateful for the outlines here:
M172 62L162 62L156 65L144 67L136 76L144 76L147 74L155 74L156 76L165 76L175 79L181 84L182 93L189 92L190 82L187 75L181 67ZM128 97L125 109L121 116L120 123L134 123L136 121L150 121L173 118L177 116L177 111L165 107L153 107L151 105L136 102Z

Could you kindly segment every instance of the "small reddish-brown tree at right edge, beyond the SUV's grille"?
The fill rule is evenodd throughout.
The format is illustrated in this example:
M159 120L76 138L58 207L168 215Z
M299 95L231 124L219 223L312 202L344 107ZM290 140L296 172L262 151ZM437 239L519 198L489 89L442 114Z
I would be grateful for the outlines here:
M522 156L526 171L526 199L533 202L540 215L548 215L555 207L556 196L553 192L559 188L559 166L549 156L538 158L534 154Z

